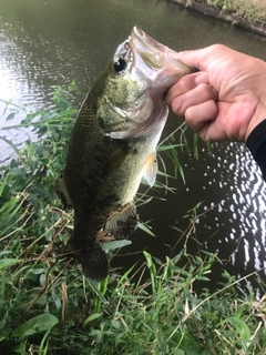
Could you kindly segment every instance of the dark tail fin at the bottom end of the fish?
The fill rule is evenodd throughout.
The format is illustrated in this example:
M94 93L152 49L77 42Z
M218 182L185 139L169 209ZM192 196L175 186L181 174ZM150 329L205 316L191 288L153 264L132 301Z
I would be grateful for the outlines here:
M82 272L85 277L98 282L108 277L108 255L96 241L88 241L81 244L76 243L72 236L68 243L68 246L74 251L73 256L78 263L81 264Z

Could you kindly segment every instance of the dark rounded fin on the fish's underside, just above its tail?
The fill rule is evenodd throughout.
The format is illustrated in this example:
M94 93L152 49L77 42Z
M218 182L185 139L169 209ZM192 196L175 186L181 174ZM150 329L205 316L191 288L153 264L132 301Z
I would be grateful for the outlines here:
M106 222L105 230L114 239L127 237L136 230L137 215L135 204L130 202L121 211L115 212Z

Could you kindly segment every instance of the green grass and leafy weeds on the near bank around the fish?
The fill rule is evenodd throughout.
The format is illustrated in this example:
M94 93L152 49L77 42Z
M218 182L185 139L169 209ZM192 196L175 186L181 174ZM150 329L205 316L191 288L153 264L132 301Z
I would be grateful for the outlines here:
M132 265L123 275L111 271L98 284L85 280L65 255L73 213L62 210L54 181L76 111L61 94L55 95L53 112L25 113L22 125L32 126L39 140L14 148L17 159L0 168L0 353L266 354L265 296L256 300L250 286L226 272L216 292L195 292L195 283L207 283L218 262L206 251L187 252L187 240L195 236L195 221L201 219L200 204L187 214L187 230L176 231L184 245L171 260L144 252L143 265ZM177 144L184 144L180 131ZM175 145L171 138L160 150L182 175ZM161 174L167 185L170 176ZM151 200L146 196L142 203ZM112 258L127 243L104 247ZM263 295L266 287L259 283Z

